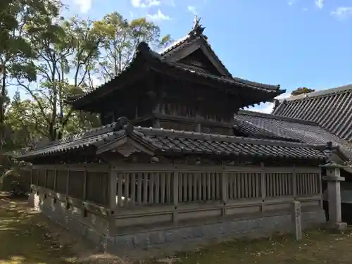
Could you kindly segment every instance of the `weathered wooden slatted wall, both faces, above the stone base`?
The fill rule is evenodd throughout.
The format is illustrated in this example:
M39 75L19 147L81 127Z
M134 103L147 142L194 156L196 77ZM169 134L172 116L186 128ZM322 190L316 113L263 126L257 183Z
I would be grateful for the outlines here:
M33 167L31 183L82 211L111 215L120 227L321 201L319 168L46 165Z

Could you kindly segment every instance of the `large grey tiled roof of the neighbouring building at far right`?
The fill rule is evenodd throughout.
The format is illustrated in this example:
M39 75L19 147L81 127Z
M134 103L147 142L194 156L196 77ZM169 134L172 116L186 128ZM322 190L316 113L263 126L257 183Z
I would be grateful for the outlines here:
M316 122L348 142L352 141L352 85L291 96L275 115Z

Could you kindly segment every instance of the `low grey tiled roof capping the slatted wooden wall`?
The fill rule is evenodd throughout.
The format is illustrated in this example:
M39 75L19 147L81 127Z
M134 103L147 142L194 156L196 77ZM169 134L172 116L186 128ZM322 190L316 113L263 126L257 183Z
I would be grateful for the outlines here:
M115 122L38 147L21 154L18 158L28 160L38 156L55 156L63 152L87 148L97 151L99 148L108 146L111 142L116 142L124 137L137 140L158 155L182 153L320 161L325 158L325 154L322 152L325 142L324 144L305 144L129 126L122 126L119 122Z

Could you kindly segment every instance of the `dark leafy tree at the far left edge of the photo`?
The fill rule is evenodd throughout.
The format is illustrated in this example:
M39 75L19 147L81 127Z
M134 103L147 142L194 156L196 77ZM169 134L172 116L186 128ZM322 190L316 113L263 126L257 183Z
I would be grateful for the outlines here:
M58 0L4 0L0 3L0 149L6 141L4 127L8 85L15 76L33 81L32 44L26 37L28 23L49 23L58 15Z

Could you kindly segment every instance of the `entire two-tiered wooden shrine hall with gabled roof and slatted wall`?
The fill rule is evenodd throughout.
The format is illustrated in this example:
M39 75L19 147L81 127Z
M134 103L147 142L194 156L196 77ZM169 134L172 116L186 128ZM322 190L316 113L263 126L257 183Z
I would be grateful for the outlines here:
M233 77L203 31L196 20L160 54L139 44L122 73L68 100L103 126L17 157L32 163L34 206L114 252L289 231L292 201L303 227L325 221L319 165L348 156L234 120L285 91Z

